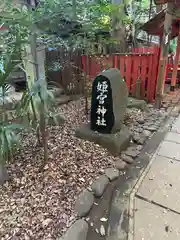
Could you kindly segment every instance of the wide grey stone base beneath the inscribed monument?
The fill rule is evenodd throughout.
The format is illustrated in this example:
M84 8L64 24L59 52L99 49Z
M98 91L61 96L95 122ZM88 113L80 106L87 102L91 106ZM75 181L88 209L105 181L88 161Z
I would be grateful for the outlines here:
M76 130L76 137L94 142L100 146L107 148L114 156L118 156L125 150L130 142L131 134L125 125L119 132L115 134L100 134L90 129L90 124L81 126Z

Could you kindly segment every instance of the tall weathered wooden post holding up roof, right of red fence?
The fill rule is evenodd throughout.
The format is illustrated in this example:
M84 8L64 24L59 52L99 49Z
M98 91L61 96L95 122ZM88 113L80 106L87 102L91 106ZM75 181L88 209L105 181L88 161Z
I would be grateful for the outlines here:
M164 94L164 83L165 83L165 74L166 74L166 65L168 59L169 44L171 40L171 30L172 30L172 10L173 3L168 3L167 11L164 21L164 32L163 39L161 44L161 53L159 60L159 69L157 76L157 89L156 89L156 99L155 107L160 108L161 102Z

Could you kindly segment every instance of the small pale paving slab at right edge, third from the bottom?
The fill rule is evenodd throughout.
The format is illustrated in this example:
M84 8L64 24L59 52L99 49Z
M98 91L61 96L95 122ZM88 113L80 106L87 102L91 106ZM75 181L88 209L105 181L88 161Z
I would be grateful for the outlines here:
M160 146L158 155L180 161L180 144L164 141Z

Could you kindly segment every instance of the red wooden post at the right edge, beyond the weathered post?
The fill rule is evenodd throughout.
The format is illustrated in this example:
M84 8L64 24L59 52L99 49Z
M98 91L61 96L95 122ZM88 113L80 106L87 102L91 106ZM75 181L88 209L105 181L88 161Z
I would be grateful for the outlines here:
M175 60L174 60L174 64L173 64L173 73L172 73L172 79L171 79L171 91L173 91L173 92L174 92L175 86L176 86L179 55L180 55L180 28L179 28L178 41L177 41L177 47L176 47L176 56L175 56Z

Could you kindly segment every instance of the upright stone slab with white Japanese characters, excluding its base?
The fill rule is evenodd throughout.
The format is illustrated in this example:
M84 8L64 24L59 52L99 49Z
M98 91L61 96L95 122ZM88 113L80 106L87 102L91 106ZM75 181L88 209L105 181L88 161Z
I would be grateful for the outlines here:
M92 86L91 129L105 134L119 131L126 106L127 88L119 70L102 72Z

